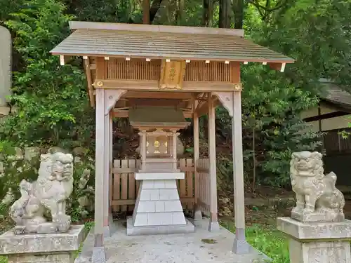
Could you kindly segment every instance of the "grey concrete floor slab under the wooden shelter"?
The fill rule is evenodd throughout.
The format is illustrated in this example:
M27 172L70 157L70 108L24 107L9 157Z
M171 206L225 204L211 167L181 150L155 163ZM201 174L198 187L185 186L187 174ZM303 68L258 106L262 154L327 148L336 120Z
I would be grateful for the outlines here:
M234 234L223 227L207 231L208 220L197 221L196 231L189 234L127 236L122 222L105 239L108 263L260 263L268 257L252 249L250 255L235 255L232 250ZM86 238L84 248L75 263L90 263L93 231Z

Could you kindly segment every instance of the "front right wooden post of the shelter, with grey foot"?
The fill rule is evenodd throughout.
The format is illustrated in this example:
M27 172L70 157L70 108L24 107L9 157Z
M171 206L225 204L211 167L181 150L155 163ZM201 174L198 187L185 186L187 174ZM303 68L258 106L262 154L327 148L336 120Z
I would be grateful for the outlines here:
M250 245L246 242L245 238L244 166L242 156L241 131L241 91L233 92L232 107L234 215L236 229L233 252L237 254L247 254L250 252Z

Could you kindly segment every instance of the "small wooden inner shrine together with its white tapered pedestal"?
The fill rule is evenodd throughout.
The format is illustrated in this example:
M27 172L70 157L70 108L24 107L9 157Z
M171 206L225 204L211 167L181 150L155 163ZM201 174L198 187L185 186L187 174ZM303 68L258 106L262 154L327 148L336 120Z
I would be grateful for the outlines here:
M127 234L171 234L194 231L185 219L176 180L185 179L178 169L178 130L190 125L183 111L175 107L130 109L129 122L140 132L140 180L133 217L127 221Z

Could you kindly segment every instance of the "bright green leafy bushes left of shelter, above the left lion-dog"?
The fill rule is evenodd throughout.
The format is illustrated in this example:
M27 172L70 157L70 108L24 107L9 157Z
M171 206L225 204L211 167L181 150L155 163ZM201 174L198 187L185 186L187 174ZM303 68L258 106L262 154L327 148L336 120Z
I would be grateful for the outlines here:
M72 143L77 136L83 141L90 137L86 131L92 114L84 74L77 61L61 67L58 57L49 53L69 33L67 22L73 17L64 11L57 1L25 1L6 22L25 67L14 74L12 102L17 110L4 123L3 140L58 145Z

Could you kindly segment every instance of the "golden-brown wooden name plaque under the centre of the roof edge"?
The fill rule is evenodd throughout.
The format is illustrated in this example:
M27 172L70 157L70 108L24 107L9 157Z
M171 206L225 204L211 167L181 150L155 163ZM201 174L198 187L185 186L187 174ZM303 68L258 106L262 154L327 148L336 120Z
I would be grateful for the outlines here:
M182 89L185 76L185 61L162 60L159 88Z

